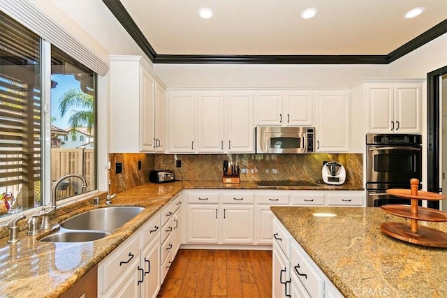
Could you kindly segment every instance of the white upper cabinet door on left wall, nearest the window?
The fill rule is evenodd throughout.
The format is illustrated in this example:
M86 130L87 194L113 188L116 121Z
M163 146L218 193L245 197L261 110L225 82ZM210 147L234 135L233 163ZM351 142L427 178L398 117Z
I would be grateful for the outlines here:
M140 151L151 152L155 148L155 80L145 68L140 68L140 81Z

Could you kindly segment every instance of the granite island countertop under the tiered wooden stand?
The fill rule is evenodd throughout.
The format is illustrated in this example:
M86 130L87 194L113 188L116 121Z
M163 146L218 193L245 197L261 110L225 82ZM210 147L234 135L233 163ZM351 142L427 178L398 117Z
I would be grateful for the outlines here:
M345 297L447 297L447 248L409 244L380 230L383 222L406 219L371 207L271 209ZM447 232L447 223L419 223Z

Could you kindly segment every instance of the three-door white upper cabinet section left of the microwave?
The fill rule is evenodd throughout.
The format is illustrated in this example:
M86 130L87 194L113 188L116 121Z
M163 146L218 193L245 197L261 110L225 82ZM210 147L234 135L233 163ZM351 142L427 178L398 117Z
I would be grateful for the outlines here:
M250 92L173 90L168 94L170 153L254 152Z

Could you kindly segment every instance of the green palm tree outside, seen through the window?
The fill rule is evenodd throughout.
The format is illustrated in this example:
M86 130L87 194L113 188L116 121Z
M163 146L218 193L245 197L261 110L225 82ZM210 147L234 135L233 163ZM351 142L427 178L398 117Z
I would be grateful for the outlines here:
M94 126L94 98L89 94L85 94L80 89L68 89L62 96L59 103L61 117L73 108L75 110L68 119L68 125L71 133L75 133L78 127L87 127L87 131L91 131Z

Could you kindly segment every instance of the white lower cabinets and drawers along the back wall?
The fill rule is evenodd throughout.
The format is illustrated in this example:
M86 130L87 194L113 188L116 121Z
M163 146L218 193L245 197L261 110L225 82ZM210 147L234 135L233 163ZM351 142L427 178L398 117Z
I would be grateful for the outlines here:
M362 206L364 191L186 190L184 244L272 244L272 206Z

